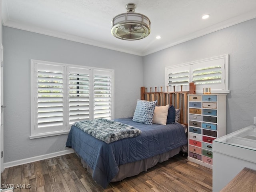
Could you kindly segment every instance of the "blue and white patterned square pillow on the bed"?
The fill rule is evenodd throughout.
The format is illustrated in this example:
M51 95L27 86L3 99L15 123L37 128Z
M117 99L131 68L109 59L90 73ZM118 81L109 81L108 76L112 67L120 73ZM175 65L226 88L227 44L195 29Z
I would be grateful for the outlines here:
M135 122L152 125L155 107L156 101L145 101L138 99L132 120Z

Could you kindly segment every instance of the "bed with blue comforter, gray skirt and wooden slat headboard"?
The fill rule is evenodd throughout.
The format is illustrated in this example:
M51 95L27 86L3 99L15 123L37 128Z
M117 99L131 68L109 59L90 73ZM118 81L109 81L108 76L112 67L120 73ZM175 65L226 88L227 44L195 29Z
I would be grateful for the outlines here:
M121 126L134 128L133 131L136 133L139 131L139 134L109 142L92 136L91 130L85 132L86 130L78 128L79 122L72 125L66 146L74 149L83 166L103 188L106 188L110 182L147 171L148 168L168 160L180 151L187 152L187 94L188 92L183 92L182 88L180 92L175 92L175 89L173 92L162 92L161 87L157 92L155 87L154 92L152 88L147 92L147 89L142 87L134 117L114 120ZM139 102L150 104L154 102L154 115L158 114L156 109L166 110L167 106L167 115L169 115L172 106L175 110L174 122L166 125L155 124L156 118L153 118L152 124L137 122L134 119ZM86 129L86 126L84 128Z

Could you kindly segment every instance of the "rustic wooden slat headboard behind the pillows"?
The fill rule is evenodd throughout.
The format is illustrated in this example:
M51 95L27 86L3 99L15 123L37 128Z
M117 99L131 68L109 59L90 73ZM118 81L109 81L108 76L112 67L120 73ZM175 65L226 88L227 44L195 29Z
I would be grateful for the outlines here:
M152 87L150 87L150 90L147 90L145 87L140 88L140 99L141 100L147 100L147 101L154 101L157 100L158 106L166 106L169 104L169 106L173 105L176 109L180 109L180 118L179 123L184 124L188 127L188 93L189 91L181 91L175 92L167 92L162 91L162 87L160 87L160 92L156 92L155 90L152 91Z

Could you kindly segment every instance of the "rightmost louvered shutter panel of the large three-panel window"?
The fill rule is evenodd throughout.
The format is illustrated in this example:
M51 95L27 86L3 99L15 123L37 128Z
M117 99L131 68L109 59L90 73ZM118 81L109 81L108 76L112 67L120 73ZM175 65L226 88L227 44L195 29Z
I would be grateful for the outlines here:
M112 72L94 70L94 118L112 118Z

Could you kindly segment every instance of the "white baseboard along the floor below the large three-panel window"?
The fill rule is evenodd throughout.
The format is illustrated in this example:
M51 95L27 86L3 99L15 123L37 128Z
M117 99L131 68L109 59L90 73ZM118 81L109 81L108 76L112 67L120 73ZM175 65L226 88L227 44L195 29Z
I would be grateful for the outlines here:
M70 153L74 153L74 150L73 149L68 149L68 150L64 150L64 151L60 151L60 152L55 152L55 153L30 157L30 158L26 158L26 159L11 161L11 162L4 163L4 168L9 168L9 167L14 167L14 166L22 165L22 164L35 162L35 161L45 160L45 159L48 159L48 158L53 158L53 157L66 155L66 154L70 154Z

